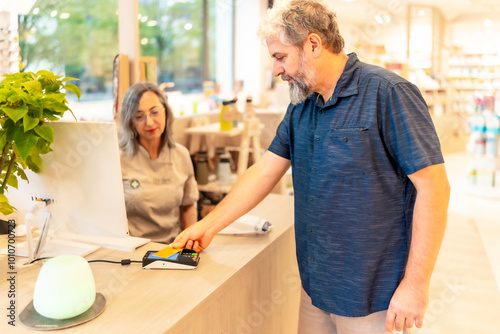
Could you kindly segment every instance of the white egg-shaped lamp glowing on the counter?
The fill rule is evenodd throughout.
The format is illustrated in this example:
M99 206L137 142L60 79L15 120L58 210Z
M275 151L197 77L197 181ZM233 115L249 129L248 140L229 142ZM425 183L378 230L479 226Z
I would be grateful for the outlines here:
M68 319L86 312L94 304L96 289L89 263L78 255L48 260L40 270L33 306L50 319Z

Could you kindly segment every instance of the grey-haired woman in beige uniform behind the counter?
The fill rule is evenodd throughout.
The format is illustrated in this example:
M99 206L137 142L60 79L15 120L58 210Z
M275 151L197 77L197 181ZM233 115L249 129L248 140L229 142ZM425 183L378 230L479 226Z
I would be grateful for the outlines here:
M130 235L170 243L197 221L189 151L174 142L172 110L155 84L132 85L120 112L123 188Z

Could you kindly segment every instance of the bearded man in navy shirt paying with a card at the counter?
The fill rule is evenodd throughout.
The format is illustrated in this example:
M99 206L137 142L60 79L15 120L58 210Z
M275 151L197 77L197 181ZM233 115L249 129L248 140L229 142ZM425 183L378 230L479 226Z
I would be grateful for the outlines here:
M206 248L291 165L299 333L421 327L450 188L418 88L346 55L336 16L319 1L275 3L259 33L291 104L263 158L173 246Z

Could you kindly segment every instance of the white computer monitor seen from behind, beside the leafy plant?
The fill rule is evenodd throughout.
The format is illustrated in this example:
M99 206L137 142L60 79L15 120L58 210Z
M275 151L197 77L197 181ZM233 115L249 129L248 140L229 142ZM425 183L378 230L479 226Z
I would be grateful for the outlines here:
M38 174L7 192L10 203L28 211L34 198L50 199L51 238L132 251L148 239L131 238L123 194L117 126L113 122L58 121L52 152ZM61 250L62 251L62 250ZM52 254L53 255L53 254Z

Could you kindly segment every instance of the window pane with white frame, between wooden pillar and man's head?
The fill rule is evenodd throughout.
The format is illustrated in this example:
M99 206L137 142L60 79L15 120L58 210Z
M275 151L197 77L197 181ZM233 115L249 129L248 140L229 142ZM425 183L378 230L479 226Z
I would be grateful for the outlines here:
M140 0L141 55L155 57L158 84L199 93L233 85L233 0Z

